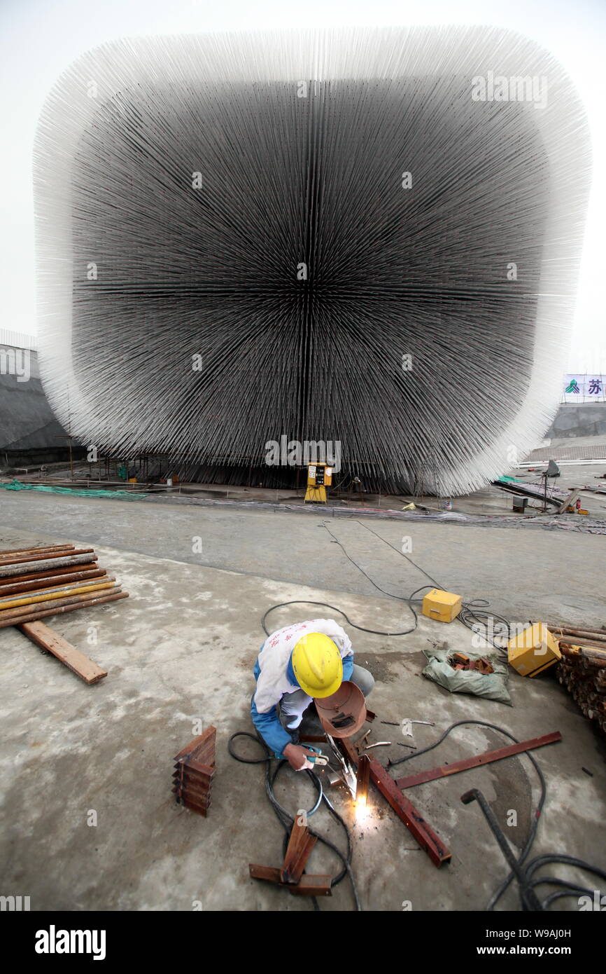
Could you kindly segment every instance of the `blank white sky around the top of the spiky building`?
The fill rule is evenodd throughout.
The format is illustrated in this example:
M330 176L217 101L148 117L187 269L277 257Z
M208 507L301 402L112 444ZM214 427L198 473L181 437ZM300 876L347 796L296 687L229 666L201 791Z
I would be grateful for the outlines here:
M0 325L29 334L37 330L34 131L54 80L77 56L104 41L141 34L441 23L516 29L550 50L577 86L591 129L593 181L568 370L606 372L604 0L0 0Z

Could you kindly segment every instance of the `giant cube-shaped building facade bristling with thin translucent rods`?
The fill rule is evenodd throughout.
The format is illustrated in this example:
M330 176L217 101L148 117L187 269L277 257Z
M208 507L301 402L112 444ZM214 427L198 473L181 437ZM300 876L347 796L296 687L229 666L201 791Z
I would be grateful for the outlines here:
M588 166L571 83L506 30L98 48L35 147L53 409L198 479L263 481L286 437L383 488L480 486L553 417Z

